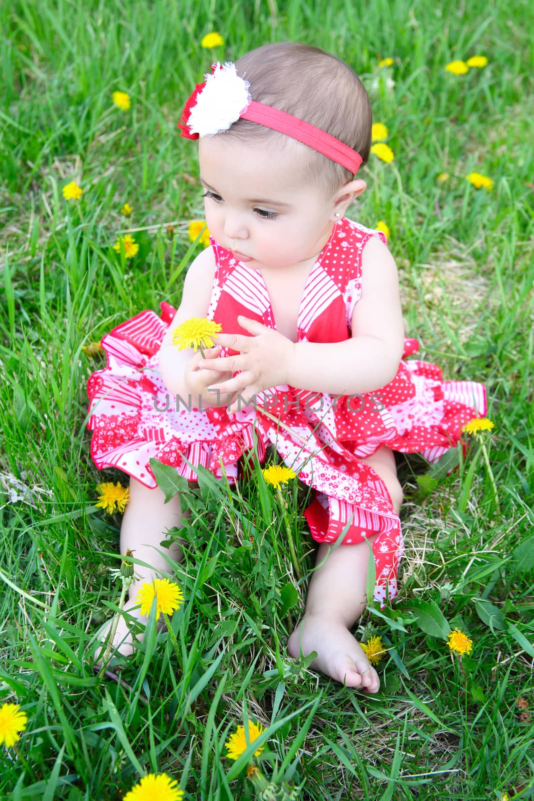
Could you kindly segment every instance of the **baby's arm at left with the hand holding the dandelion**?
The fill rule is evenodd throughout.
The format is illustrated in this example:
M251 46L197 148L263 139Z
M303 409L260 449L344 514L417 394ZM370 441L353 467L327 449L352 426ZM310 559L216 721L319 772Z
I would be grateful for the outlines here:
M231 376L220 370L200 369L200 352L193 348L179 350L172 343L175 329L190 317L205 317L210 304L211 288L215 276L215 256L211 247L206 248L191 263L183 283L182 302L159 349L159 368L163 383L173 395L179 395L196 408L214 406L216 393L207 392L207 387ZM209 359L219 355L220 348L204 350Z

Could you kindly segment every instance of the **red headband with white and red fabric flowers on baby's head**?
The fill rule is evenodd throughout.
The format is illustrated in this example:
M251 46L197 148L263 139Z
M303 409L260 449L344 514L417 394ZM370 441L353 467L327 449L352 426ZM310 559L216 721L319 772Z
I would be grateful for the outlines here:
M326 155L353 174L358 171L362 157L351 147L335 139L335 136L321 131L303 119L265 106L251 100L249 83L235 72L235 64L227 62L222 67L219 62L212 66L212 74L207 74L204 83L197 83L195 90L183 108L181 122L182 136L199 139L199 136L214 136L227 131L237 119L248 119L273 131L291 136L298 142Z

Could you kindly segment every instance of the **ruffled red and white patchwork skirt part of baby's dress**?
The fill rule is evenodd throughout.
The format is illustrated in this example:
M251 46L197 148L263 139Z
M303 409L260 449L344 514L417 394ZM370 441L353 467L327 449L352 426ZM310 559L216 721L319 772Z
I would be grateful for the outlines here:
M316 491L305 511L312 537L343 544L374 537L375 599L393 598L404 552L399 517L382 479L362 459L387 445L436 461L460 441L465 423L486 413L484 385L443 381L435 364L412 359L386 387L361 396L279 387L235 415L194 409L169 395L159 372L159 347L175 315L169 304L161 307L161 316L140 312L102 339L106 368L87 384L94 464L151 488L151 458L191 480L197 465L219 478L224 470L232 483L243 454L256 447L262 461L272 444ZM418 347L406 340L404 355Z

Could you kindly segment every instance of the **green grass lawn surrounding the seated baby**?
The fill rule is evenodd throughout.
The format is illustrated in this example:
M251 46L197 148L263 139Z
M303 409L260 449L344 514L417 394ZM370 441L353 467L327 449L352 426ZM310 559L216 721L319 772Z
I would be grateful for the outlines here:
M160 771L186 798L253 798L246 759L234 766L223 748L244 715L267 730L263 773L303 785L295 798L532 798L529 4L13 0L0 29L0 473L31 493L0 490L0 703L28 715L18 753L0 751L0 798L118 799ZM225 41L215 54L199 44L211 30ZM179 653L152 630L123 684L101 682L87 652L118 600L108 568L120 521L95 509L95 485L121 474L90 462L85 383L101 362L81 348L160 300L179 303L196 252L187 222L203 207L195 147L176 120L212 55L286 39L351 63L389 128L395 162L371 159L349 216L391 228L407 331L424 357L448 378L488 384L499 505L476 447L426 497L427 466L402 458L399 596L381 614L371 606L358 631L391 646L383 690L368 698L285 651L313 564L305 493L287 491L299 584L258 465L231 491L205 477L184 497L185 558L173 566L186 598L172 622ZM444 72L474 54L489 65ZM386 56L395 64L379 70ZM116 89L130 111L111 103ZM471 187L471 171L493 191ZM72 179L78 203L62 198ZM140 250L126 263L110 246L129 228ZM463 670L447 626L472 638Z

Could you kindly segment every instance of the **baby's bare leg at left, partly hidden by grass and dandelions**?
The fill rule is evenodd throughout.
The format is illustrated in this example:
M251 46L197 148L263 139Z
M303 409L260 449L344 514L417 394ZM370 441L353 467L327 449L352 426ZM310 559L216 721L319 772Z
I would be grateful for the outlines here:
M170 568L163 553L167 553L175 562L182 558L177 542L173 542L168 549L160 545L160 542L167 539L167 529L183 525L179 496L175 495L168 503L164 501L165 496L159 487L148 489L135 478L130 478L130 500L122 517L121 553L126 553L129 548L134 552L135 559L147 562L151 567L134 566L136 578L130 585L130 600L124 608L142 623L146 623L147 618L139 610L132 610L133 606L138 606L135 597L141 585L169 572ZM102 641L106 640L110 627L111 621L100 635ZM133 638L124 618L120 618L118 622L112 645L115 651L124 656L133 651ZM112 650L111 653L113 652Z

